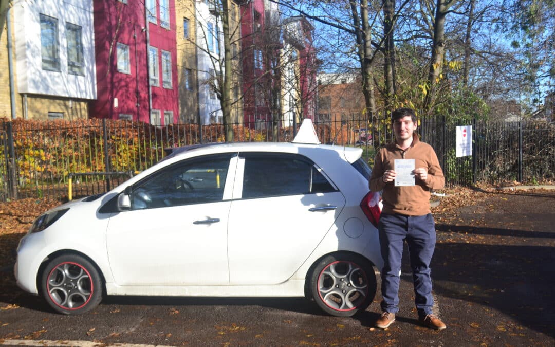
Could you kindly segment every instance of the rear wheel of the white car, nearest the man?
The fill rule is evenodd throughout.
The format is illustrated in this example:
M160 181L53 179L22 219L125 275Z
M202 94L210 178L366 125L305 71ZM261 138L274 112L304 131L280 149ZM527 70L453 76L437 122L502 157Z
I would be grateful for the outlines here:
M311 294L326 313L348 317L365 310L376 295L376 275L359 255L337 253L322 258L310 276Z

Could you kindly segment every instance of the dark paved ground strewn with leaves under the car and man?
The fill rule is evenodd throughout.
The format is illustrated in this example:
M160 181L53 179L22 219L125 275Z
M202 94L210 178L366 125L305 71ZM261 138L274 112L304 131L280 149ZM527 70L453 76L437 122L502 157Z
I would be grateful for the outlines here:
M405 259L401 310L387 330L372 328L379 296L355 318L322 315L304 299L137 297L108 298L92 313L63 316L4 283L13 290L0 293L0 344L555 345L555 192L488 194L436 219L432 276L446 330L416 321Z

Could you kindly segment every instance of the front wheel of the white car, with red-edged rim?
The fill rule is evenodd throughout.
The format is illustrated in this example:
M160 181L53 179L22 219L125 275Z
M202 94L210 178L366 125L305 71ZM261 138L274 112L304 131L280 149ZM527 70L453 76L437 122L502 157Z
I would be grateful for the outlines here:
M85 313L102 300L98 270L75 254L60 255L48 262L41 275L41 289L47 303L63 314Z

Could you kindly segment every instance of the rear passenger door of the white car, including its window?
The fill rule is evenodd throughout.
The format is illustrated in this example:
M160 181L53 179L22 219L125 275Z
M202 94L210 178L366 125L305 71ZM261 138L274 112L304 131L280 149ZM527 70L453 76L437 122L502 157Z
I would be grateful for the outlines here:
M231 285L290 278L332 228L345 198L306 157L240 153L228 231Z

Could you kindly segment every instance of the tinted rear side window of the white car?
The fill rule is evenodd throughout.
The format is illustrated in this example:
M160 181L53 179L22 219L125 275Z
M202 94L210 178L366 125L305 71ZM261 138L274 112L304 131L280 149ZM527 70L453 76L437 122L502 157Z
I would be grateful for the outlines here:
M241 153L243 198L334 192L310 159L288 153Z

